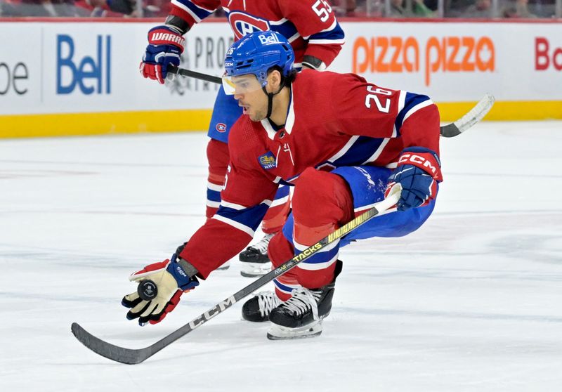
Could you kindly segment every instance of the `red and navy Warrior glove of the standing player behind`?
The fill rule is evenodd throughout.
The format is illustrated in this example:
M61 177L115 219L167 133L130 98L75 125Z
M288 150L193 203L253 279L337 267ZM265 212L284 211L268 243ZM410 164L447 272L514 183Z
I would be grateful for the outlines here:
M180 65L180 55L183 53L184 46L185 39L176 27L162 25L150 29L148 46L140 67L143 77L164 84L168 74L168 64L176 67Z

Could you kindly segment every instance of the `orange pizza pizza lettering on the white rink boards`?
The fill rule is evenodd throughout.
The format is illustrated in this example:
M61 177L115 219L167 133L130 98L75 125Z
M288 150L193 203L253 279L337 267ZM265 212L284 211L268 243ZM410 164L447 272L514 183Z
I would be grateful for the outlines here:
M419 72L425 84L437 72L485 72L495 68L495 46L489 37L359 37L353 44L353 72Z

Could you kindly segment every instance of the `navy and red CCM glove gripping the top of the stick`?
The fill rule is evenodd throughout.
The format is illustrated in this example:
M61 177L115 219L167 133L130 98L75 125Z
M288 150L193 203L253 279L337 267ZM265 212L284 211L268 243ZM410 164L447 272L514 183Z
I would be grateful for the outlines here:
M398 167L388 178L387 192L395 183L402 185L398 211L428 204L437 195L437 183L443 181L441 164L435 152L424 147L403 150Z

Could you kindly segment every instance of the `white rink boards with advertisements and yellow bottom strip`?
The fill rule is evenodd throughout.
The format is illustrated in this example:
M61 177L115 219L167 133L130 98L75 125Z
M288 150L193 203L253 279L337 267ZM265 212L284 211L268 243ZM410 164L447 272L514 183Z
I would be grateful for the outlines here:
M0 21L0 137L207 129L218 86L138 74L150 22ZM483 93L486 119L562 119L562 23L344 20L346 44L329 70L426 93L443 121ZM187 34L182 66L222 74L232 42L223 21Z

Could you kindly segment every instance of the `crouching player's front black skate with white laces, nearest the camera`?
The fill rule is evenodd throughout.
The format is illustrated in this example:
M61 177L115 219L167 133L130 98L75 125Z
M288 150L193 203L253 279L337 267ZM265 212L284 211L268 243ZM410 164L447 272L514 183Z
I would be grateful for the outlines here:
M268 339L301 339L322 333L322 320L332 310L336 277L341 273L341 261L336 261L334 280L319 289L294 290L292 297L273 309L269 315L271 327Z

